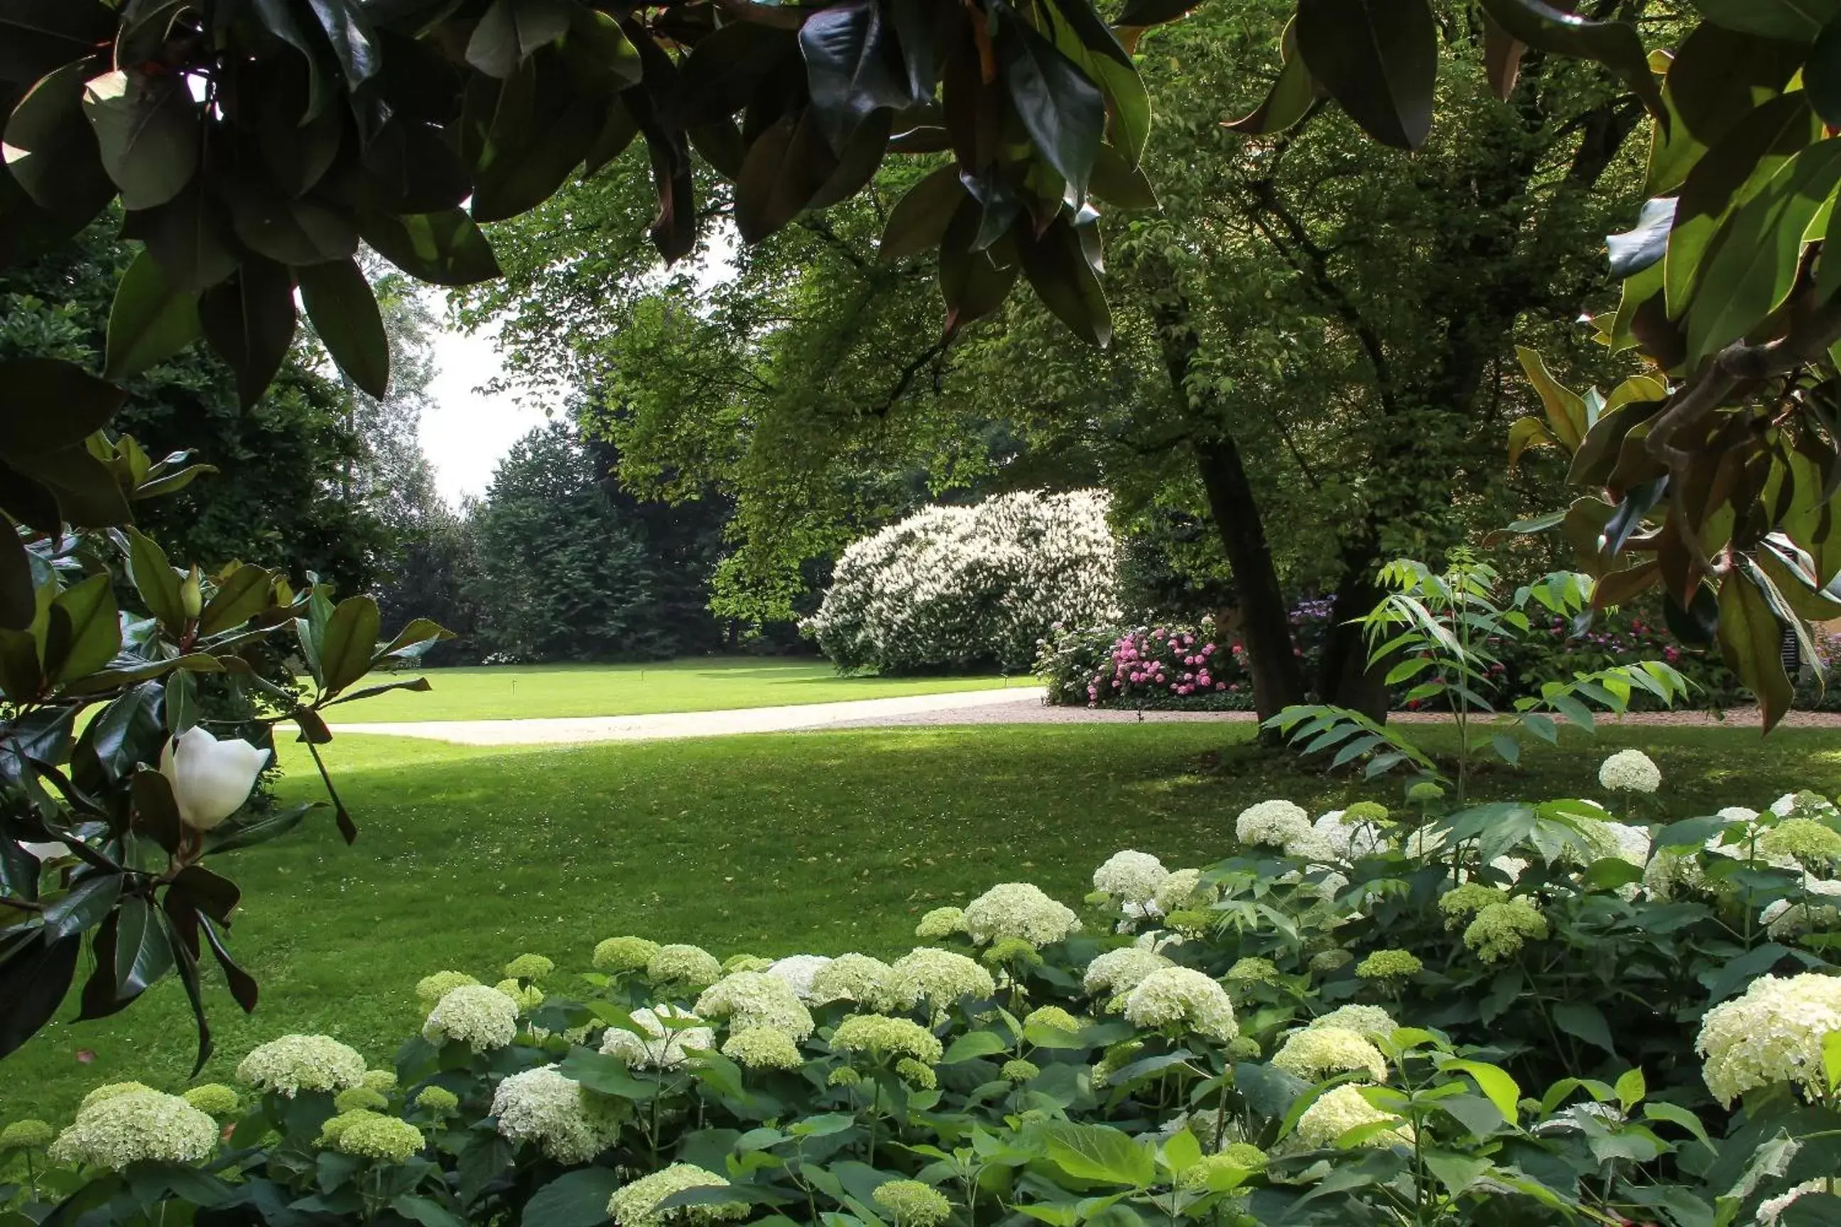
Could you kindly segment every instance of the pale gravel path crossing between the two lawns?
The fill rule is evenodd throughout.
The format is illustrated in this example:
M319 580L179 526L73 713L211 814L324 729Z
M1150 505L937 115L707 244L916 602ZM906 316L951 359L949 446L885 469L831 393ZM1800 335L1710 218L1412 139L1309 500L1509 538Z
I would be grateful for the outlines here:
M735 732L797 732L828 728L902 728L917 725L1130 725L1130 723L1248 723L1252 712L1130 712L1117 708L1046 706L1042 688L961 690L893 699L852 699L799 706L758 706L727 712L672 712L659 716L582 716L556 719L433 719L412 723L333 725L335 732L427 738L457 745L569 745L582 741L650 741L659 738L716 738ZM1401 723L1442 723L1449 717L1401 712ZM1758 708L1740 708L1725 719L1707 712L1638 712L1624 725L1756 728ZM1835 712L1791 712L1789 728L1841 728Z

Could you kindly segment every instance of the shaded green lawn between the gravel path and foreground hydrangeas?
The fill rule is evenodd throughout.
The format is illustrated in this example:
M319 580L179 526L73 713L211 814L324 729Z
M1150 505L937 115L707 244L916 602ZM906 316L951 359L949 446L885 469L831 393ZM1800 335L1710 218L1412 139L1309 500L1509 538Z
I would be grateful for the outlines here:
M998 881L1079 903L1121 846L1208 865L1254 800L1314 813L1399 798L1397 780L1311 774L1248 734L1009 725L517 751L342 736L330 758L359 843L346 848L320 817L217 863L245 890L232 947L261 1004L245 1017L212 973L217 1056L204 1076L230 1080L243 1052L291 1030L387 1065L420 1025L416 979L440 968L495 979L539 951L567 992L595 942L620 933L718 955L893 955L913 946L922 911ZM1841 791L1837 732L1613 728L1486 773L1478 793L1598 795L1598 762L1624 745L1657 758L1675 815ZM287 797L315 791L300 773L284 784ZM72 997L59 1017L74 1014ZM0 1061L0 1118L64 1120L87 1089L122 1078L182 1087L191 1050L168 980L114 1019L53 1023Z

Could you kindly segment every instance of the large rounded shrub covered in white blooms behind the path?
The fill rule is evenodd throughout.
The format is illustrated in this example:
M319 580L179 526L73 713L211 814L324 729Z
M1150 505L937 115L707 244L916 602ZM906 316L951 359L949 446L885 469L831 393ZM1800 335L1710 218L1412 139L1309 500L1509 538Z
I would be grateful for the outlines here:
M1024 671L1057 624L1119 616L1103 491L926 508L854 541L805 629L839 668Z

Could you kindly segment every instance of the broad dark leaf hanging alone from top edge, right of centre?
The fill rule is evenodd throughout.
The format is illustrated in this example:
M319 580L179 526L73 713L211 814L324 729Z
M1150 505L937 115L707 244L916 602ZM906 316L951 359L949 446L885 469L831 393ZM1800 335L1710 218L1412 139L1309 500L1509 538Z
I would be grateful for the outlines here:
M1370 136L1395 149L1425 143L1438 79L1438 24L1427 0L1300 0L1298 53Z

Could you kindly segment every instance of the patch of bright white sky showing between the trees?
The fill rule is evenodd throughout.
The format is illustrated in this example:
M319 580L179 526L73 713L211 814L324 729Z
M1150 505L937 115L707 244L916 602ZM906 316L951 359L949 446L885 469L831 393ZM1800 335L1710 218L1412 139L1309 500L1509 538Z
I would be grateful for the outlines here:
M436 300L434 309L446 320L446 304ZM422 449L449 504L462 495L484 495L499 458L545 421L538 405L519 405L512 394L477 392L499 372L493 333L442 331L434 338L433 407L422 416Z

